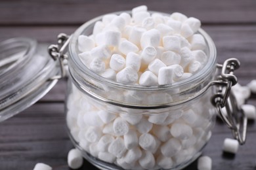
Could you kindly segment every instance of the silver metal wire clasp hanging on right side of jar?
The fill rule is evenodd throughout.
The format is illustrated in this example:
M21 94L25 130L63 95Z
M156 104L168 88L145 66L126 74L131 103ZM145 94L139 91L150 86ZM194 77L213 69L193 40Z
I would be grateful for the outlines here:
M217 68L221 69L221 75L217 76L217 80L211 83L217 86L217 93L211 97L211 103L217 108L223 122L232 130L234 139L238 140L240 144L244 144L247 118L244 111L238 108L236 98L231 91L232 86L238 82L234 70L239 67L240 61L236 58L227 59L223 65L217 64Z

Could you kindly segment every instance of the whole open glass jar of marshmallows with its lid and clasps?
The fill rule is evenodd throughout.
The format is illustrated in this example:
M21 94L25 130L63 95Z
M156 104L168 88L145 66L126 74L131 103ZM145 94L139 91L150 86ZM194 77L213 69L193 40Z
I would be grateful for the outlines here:
M196 18L146 6L94 18L49 46L56 62L43 58L41 64L42 55L24 62L42 66L38 76L30 74L40 83L28 88L18 78L26 82L22 93L1 100L0 120L32 105L68 75L68 134L99 169L182 169L202 153L217 114L243 144L246 118L230 92L240 63L232 58L218 64L215 44L200 26ZM10 43L16 42L34 44Z

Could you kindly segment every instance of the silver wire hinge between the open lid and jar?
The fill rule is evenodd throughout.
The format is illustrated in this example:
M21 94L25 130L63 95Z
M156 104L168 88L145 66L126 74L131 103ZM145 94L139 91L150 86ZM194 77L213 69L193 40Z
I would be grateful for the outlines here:
M68 58L68 55L66 54L66 52L67 52L68 44L70 42L70 38L71 36L68 36L64 33L60 33L58 35L58 42L57 42L58 44L51 44L48 47L48 53L50 54L50 56L54 59L54 61L58 59L60 63L60 75L53 76L51 80L59 79L66 75L66 71L64 67L66 64L64 63L64 59Z

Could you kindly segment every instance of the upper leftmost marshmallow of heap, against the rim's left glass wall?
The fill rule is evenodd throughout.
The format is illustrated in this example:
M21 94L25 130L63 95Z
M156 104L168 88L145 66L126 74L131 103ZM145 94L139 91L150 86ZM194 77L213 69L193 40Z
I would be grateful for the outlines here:
M95 41L86 35L79 35L78 50L80 52L87 52L95 47Z

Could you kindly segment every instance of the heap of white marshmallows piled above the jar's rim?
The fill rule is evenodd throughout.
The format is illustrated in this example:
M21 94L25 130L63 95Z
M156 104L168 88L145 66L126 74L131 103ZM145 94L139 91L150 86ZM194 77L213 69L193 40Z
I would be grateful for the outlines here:
M136 7L132 16L106 14L93 34L78 37L79 58L98 75L122 84L158 86L192 76L207 61L201 22Z

